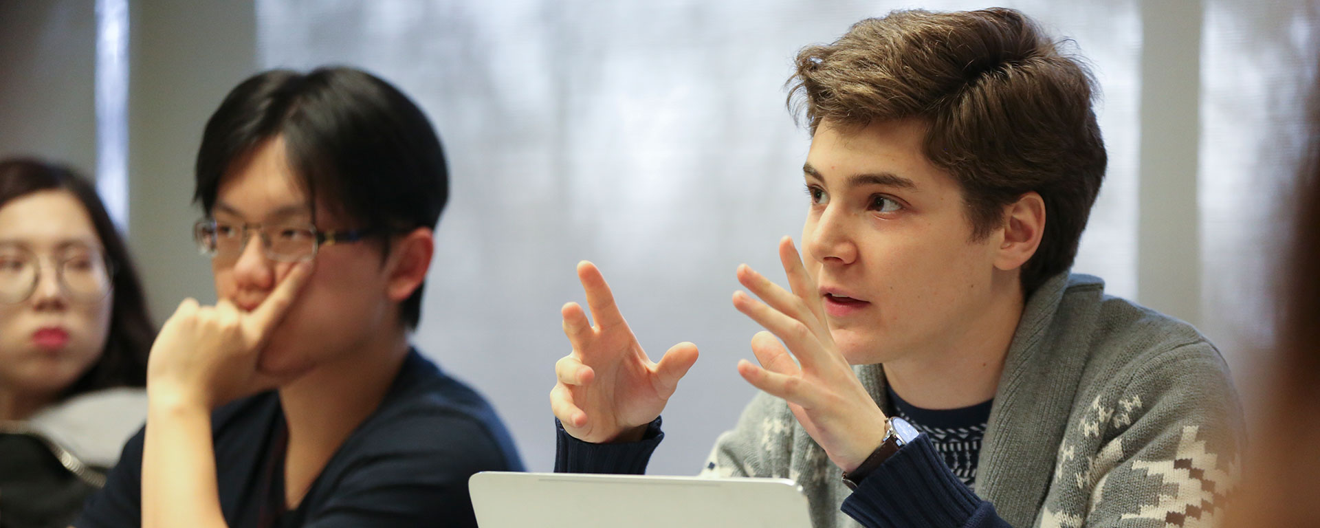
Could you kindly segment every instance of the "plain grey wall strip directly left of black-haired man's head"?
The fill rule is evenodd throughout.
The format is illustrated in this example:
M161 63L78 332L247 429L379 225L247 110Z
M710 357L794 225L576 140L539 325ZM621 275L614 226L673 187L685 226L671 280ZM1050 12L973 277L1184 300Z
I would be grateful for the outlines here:
M206 119L256 67L251 0L131 1L129 231L153 315L185 297L214 302L191 227L193 161Z

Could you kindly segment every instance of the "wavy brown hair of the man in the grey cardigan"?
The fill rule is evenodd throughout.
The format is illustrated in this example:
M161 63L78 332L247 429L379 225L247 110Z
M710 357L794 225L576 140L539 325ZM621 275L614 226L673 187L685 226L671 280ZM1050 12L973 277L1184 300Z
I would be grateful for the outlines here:
M825 121L925 123L925 156L961 183L973 240L1003 224L1006 205L1039 193L1047 220L1022 269L1030 293L1072 267L1107 160L1096 82L1059 48L1014 9L895 11L799 51L788 104L812 133Z

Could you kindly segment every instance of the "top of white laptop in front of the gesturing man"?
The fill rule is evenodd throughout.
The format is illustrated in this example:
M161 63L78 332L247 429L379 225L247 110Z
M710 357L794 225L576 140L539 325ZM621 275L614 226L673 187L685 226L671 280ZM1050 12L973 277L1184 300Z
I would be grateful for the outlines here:
M480 528L809 528L789 479L482 471L467 480Z

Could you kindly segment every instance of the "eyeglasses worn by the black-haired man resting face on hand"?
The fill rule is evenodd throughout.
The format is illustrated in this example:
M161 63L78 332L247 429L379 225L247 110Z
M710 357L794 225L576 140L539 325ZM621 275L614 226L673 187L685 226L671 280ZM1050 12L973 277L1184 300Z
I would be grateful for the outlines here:
M260 236L267 259L301 263L314 259L322 246L358 242L372 230L317 231L310 223L260 224L214 218L203 218L193 226L198 251L222 261L238 260L253 232Z

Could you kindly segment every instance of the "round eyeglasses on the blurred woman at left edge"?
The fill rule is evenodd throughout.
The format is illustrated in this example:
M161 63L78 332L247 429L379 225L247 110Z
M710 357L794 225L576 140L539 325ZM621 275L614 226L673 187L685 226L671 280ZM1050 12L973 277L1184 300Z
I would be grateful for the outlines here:
M0 246L0 304L18 304L41 284L42 260L50 260L61 292L78 302L95 302L114 288L115 269L99 251L66 249L41 259L28 248Z

